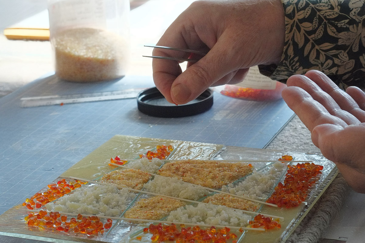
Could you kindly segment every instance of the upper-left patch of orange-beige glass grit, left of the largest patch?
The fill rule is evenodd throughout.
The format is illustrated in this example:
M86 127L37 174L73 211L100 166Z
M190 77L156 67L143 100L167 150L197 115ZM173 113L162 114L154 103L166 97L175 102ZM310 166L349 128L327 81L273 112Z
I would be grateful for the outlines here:
M143 184L151 179L149 173L135 169L119 169L101 177L101 182L115 184L119 187L128 187L141 190Z

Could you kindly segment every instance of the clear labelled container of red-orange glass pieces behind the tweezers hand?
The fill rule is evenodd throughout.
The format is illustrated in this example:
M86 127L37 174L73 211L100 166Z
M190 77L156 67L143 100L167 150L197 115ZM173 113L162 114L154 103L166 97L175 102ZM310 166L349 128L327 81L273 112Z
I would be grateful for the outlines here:
M284 83L274 81L260 74L258 67L251 67L243 82L224 85L221 94L252 101L274 101L281 99L281 91L287 87Z

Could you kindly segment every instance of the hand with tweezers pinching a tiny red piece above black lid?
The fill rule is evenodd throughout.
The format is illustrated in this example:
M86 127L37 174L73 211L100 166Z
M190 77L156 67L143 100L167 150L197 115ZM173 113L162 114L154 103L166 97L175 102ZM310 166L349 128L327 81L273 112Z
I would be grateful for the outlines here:
M158 46L208 52L182 72L177 61L153 59L153 79L167 101L184 104L210 86L241 82L249 67L278 64L285 20L280 0L196 1L170 25ZM188 54L157 49L154 56Z

